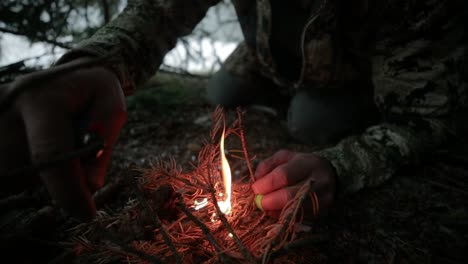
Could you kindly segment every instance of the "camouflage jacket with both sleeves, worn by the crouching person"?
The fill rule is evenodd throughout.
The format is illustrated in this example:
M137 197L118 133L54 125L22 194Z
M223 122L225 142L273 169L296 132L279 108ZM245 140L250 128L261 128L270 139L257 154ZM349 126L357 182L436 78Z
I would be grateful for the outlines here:
M463 0L289 1L306 14L296 78L282 76L272 52L274 27L284 22L275 24L275 1L233 0L245 43L265 76L293 88L358 78L372 78L375 86L381 123L316 152L334 165L339 194L384 182L453 135L467 101ZM129 0L118 18L58 63L112 52L108 66L130 94L218 2Z

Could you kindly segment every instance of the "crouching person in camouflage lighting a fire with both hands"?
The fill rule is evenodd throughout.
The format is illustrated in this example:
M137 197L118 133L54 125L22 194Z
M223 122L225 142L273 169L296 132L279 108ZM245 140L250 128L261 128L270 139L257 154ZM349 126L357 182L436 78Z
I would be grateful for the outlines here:
M116 19L51 70L107 59L41 84L48 92L38 98L34 91L20 96L15 114L24 126L17 135L28 139L25 151L33 163L73 149L71 113L91 112L106 124L101 134L109 144L102 160L72 160L41 174L61 206L94 215L90 194L104 182L112 143L125 121L123 94L151 77L177 38L189 34L218 2L129 1ZM401 166L423 160L456 130L454 120L467 100L465 1L233 4L245 40L209 82L208 99L233 107L290 98L290 134L323 146L314 153L280 150L258 165L252 190L269 215L278 216L296 184L309 177L326 211L335 199L377 186ZM108 103L85 103L93 100ZM69 114L47 114L57 110Z

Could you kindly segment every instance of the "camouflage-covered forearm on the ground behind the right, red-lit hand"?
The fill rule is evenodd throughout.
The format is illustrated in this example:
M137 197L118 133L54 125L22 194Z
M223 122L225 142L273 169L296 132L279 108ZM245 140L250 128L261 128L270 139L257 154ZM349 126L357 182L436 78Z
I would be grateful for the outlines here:
M401 166L421 161L447 140L450 131L448 122L440 119L382 123L316 154L335 167L337 193L342 196L380 185Z

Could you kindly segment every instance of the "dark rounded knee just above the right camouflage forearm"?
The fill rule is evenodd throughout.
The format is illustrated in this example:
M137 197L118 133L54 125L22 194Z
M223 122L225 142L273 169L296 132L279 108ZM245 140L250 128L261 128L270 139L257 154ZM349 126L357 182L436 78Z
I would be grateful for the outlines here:
M295 139L317 147L357 133L378 120L379 114L367 89L301 89L292 98L288 111L289 133Z

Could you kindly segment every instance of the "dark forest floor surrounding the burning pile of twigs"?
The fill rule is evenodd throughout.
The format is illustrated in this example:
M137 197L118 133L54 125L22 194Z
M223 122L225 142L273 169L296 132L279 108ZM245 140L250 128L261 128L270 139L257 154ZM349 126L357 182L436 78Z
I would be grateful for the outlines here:
M130 164L148 168L157 158L174 157L188 167L196 159L214 109L203 99L205 83L161 74L128 98L129 119L107 186L97 194L100 210L118 212L132 199L121 181ZM244 127L254 165L279 149L313 150L288 136L284 111L247 108ZM467 146L454 142L424 164L402 168L383 186L337 201L328 216L312 223L317 240L298 252L312 252L310 263L466 263ZM75 259L68 230L78 223L50 206L42 188L2 197L0 210L2 259L12 258L3 263Z

